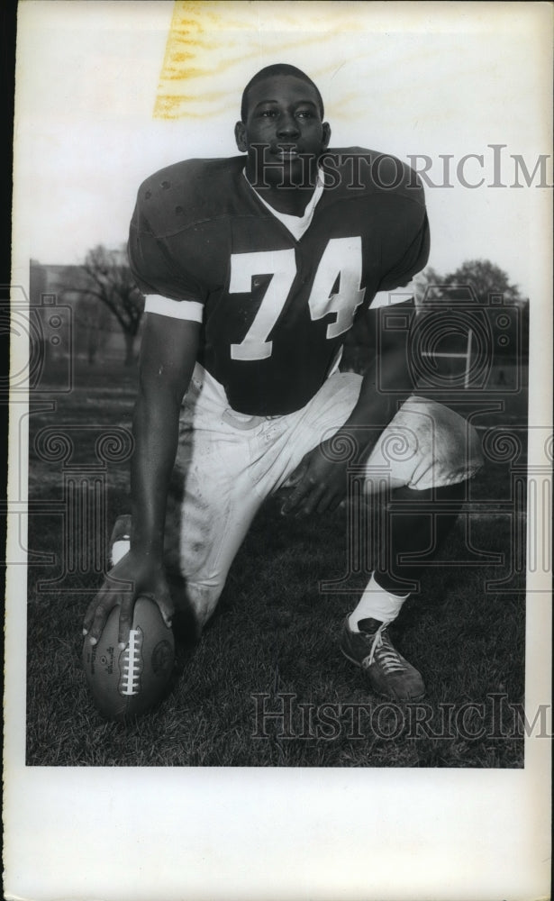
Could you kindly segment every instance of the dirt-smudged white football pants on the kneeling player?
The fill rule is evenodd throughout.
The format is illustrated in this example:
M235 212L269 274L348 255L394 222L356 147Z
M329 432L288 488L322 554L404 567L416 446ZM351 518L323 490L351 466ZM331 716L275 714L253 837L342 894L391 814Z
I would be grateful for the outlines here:
M259 506L285 485L305 453L346 422L360 385L360 376L337 372L295 413L247 416L229 407L209 373L195 368L177 451L184 496L180 507L168 507L166 550L186 579L200 626L213 614ZM473 427L449 408L414 397L377 440L365 466L367 491L382 490L384 480L389 488L441 487L470 478L480 465Z

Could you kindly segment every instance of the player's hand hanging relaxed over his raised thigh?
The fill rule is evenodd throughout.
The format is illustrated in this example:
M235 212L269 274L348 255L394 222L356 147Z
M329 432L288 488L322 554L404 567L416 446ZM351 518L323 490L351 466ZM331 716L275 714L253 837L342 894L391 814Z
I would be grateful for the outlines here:
M281 507L282 514L309 516L335 510L347 490L347 461L332 460L329 442L304 455L289 482L294 485Z

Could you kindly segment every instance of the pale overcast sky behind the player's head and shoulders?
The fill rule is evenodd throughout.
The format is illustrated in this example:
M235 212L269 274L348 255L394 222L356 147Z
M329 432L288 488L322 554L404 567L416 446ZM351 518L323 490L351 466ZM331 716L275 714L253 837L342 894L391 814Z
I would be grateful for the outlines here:
M549 192L535 187L539 173L533 187L509 186L512 155L532 172L550 153L540 5L211 3L180 12L172 20L172 3L148 0L23 0L16 269L30 256L74 263L96 243L125 241L141 180L177 159L236 153L242 86L286 61L320 86L331 146L395 153L417 168L430 158L439 186L426 188L430 265L444 273L492 259L530 292L537 255L549 249L540 207ZM172 21L177 45L168 44ZM496 168L491 144L506 145ZM449 154L453 187L444 187ZM460 163L467 154L483 159ZM548 171L551 182L551 158ZM508 187L490 187L495 180Z

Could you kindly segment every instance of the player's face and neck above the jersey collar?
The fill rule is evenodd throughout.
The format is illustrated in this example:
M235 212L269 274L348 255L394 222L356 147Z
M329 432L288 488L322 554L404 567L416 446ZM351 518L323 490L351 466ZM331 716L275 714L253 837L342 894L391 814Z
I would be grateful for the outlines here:
M235 136L239 150L248 153L250 180L307 185L313 184L331 128L322 122L313 86L294 76L273 76L250 88L246 122L237 123Z

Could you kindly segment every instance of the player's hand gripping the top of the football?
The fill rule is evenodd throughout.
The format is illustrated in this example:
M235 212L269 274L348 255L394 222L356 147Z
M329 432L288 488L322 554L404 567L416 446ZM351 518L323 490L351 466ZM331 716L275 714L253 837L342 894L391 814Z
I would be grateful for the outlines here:
M98 641L109 614L119 605L119 643L124 647L132 627L135 601L139 597L155 601L164 623L171 625L174 607L163 566L129 551L114 569L110 569L100 591L88 605L83 621L83 634L88 636L88 641L91 644Z

